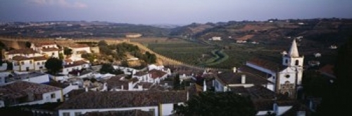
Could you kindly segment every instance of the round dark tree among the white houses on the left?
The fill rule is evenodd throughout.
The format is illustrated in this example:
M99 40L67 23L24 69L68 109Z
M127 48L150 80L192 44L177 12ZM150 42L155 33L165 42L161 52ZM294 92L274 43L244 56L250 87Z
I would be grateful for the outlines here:
M45 67L52 75L56 75L58 71L63 69L63 60L58 58L49 58L46 60Z

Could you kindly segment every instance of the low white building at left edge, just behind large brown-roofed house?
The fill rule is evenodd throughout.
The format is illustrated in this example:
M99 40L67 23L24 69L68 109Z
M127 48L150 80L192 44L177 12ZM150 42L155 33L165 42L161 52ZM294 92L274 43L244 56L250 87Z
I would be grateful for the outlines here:
M46 84L49 83L49 75L42 72L30 72L27 74L15 74L10 73L6 76L0 77L0 86L5 84L11 84L13 82L25 81L25 82L33 82L37 84Z

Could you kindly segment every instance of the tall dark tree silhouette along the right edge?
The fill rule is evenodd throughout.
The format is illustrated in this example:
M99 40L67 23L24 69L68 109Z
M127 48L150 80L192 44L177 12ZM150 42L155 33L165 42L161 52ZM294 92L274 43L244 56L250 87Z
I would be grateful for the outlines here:
M337 79L322 97L322 102L317 109L317 115L346 115L351 114L352 104L352 37L346 44L339 47L337 62L334 66L334 75ZM347 106L347 107L346 107Z

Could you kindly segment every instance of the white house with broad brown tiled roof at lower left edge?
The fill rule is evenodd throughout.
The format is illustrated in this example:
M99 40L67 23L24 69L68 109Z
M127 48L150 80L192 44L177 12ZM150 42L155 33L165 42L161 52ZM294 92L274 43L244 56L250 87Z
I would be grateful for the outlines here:
M32 82L13 82L0 87L0 99L5 106L34 105L63 101L62 89Z

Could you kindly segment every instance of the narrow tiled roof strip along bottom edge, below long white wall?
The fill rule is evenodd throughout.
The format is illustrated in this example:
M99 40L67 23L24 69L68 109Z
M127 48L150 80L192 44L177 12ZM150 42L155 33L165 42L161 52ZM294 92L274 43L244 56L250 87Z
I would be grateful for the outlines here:
M153 111L142 110L121 110L121 111L106 111L106 112L86 112L82 116L107 116L107 115L123 115L123 116L153 116Z

